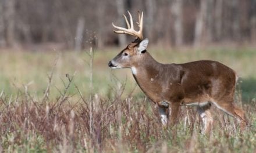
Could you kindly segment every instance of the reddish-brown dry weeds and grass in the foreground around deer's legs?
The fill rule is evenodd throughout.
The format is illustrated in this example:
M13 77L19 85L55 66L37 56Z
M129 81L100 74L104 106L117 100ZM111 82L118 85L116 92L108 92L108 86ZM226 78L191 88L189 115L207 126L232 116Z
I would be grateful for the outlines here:
M65 90L55 101L35 100L24 91L17 97L1 95L2 150L16 152L253 152L255 107L244 105L251 125L240 133L238 123L215 113L209 137L199 133L193 107L183 108L180 122L163 129L157 111L147 99L80 95L72 101ZM68 90L68 88L67 88ZM79 88L77 88L79 92ZM90 104L92 104L90 106ZM213 108L216 111L216 108ZM219 115L221 114L221 115Z

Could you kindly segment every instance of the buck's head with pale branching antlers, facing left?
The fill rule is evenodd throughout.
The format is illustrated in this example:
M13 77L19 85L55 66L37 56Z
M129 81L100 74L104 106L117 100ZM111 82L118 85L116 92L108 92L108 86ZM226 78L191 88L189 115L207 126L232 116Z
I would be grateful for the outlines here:
M138 13L138 27L140 30L136 31L133 28L133 17L130 12L130 24L127 20L127 17L124 15L127 28L118 27L113 24L117 30L114 32L117 34L129 34L137 37L135 41L131 42L126 46L116 57L114 57L111 61L109 61L108 66L111 68L131 68L136 67L139 64L139 61L143 59L143 55L146 52L146 48L148 45L148 39L143 39L143 12Z

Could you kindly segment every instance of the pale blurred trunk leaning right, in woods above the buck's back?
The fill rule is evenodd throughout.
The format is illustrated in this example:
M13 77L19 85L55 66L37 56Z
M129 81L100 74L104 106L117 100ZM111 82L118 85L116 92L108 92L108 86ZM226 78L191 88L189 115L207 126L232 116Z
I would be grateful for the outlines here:
M201 0L200 10L197 13L197 18L195 21L195 38L194 46L200 46L202 43L203 32L205 28L205 14L207 13L207 1Z

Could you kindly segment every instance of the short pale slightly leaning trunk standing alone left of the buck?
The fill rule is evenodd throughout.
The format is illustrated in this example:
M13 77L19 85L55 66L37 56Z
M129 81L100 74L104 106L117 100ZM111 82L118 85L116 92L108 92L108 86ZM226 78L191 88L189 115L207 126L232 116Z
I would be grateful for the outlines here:
M74 40L74 50L76 50L77 52L80 52L82 49L83 31L84 31L84 18L80 17L77 21L76 38Z

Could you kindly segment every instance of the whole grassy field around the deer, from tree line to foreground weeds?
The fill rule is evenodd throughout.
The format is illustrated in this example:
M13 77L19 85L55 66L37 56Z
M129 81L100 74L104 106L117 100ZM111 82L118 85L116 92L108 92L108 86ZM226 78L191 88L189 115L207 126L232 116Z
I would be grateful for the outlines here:
M0 50L0 150L256 152L254 48L149 49L162 63L218 60L237 71L236 104L250 125L240 133L236 120L213 107L209 136L199 133L201 121L193 107L183 107L180 122L163 129L155 105L130 70L108 68L119 49L95 50L92 67L87 51Z

